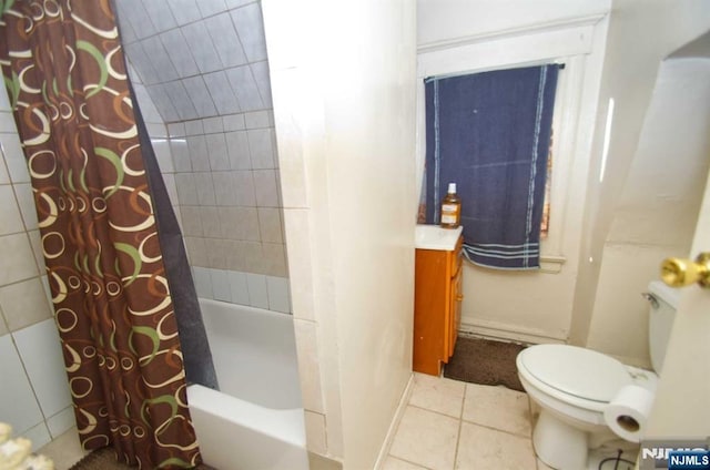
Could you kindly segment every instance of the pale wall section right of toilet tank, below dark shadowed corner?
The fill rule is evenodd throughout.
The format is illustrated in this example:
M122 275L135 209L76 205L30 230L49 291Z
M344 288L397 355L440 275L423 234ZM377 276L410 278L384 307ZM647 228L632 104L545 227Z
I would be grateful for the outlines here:
M588 345L629 360L648 357L649 310L639 293L659 277L661 259L689 254L710 164L702 71L690 59L661 65L605 243Z

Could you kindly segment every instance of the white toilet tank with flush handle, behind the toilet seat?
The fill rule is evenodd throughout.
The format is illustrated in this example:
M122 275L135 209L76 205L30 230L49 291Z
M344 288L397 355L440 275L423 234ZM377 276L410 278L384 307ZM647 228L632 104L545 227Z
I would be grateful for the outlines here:
M652 280L648 285L648 294L650 309L648 346L651 355L651 366L660 375L680 293L660 280Z

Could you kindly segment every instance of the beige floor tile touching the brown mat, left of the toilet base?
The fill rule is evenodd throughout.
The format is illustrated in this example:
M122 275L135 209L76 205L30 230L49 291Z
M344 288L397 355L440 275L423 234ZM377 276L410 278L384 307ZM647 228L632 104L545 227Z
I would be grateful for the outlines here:
M463 419L530 437L528 396L506 387L466 384Z

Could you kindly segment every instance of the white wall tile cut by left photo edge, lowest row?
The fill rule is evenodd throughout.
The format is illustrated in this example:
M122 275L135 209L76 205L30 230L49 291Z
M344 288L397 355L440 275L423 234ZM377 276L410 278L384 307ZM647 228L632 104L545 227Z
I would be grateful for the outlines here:
M34 400L30 381L24 374L11 335L0 337L0 415L2 421L20 435L42 421L42 412Z

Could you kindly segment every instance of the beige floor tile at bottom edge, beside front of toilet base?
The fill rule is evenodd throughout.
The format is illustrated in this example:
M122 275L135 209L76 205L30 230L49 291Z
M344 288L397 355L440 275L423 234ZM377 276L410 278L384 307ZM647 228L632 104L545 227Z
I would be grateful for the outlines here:
M457 470L536 470L529 438L469 422L462 423Z

